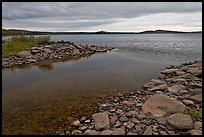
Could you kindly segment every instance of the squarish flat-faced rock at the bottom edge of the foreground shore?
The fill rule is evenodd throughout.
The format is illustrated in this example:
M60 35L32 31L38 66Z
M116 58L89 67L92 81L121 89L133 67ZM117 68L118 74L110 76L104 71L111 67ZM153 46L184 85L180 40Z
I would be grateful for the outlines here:
M107 112L96 113L96 114L93 114L92 117L94 120L96 130L110 128L110 121L109 121Z

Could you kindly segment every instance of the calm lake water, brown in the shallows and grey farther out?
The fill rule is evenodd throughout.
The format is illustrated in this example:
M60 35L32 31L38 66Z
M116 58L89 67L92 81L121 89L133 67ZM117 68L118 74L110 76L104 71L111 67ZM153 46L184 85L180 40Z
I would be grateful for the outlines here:
M3 38L4 39L4 38ZM47 67L2 69L4 134L46 134L109 95L139 90L168 65L202 59L202 34L51 35L116 49Z

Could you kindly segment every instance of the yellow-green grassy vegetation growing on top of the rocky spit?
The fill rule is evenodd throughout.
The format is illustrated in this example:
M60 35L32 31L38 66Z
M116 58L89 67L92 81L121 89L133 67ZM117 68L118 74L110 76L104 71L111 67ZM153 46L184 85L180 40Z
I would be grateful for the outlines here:
M2 41L2 54L4 57L14 55L24 49L29 49L36 44L48 42L48 36L34 37L34 36L19 36L12 37L11 40Z

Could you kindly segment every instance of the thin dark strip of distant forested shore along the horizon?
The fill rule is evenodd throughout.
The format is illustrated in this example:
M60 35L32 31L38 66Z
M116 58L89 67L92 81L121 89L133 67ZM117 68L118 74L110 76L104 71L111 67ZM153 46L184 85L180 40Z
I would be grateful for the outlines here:
M202 33L202 31L194 32L182 32L182 31L170 31L170 30L148 30L143 32L107 32L107 31L97 31L97 32L42 32L42 31L28 31L19 29L3 29L2 36L8 35L57 35L57 34L172 34L172 33Z

